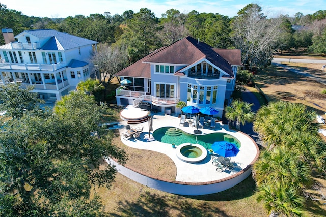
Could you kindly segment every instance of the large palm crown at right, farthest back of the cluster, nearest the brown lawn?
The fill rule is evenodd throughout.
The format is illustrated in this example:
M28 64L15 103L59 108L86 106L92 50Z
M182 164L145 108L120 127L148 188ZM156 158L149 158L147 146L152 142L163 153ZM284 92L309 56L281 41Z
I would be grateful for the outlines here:
M275 101L258 110L253 129L269 148L273 148L282 143L283 136L295 131L315 134L315 118L316 113L301 103Z

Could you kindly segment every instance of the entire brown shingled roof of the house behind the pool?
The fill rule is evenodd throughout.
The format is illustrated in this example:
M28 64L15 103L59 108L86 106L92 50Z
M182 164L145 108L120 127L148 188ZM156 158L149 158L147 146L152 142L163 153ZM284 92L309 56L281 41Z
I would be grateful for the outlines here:
M230 77L234 77L231 65L242 66L240 50L214 49L206 43L187 36L168 47L162 47L145 56L118 72L116 76L150 78L150 63L188 66L202 59L207 59Z

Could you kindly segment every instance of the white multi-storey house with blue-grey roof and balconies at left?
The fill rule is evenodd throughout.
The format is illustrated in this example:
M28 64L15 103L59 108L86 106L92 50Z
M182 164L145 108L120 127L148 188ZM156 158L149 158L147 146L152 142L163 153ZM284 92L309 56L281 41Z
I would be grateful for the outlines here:
M0 85L34 86L40 98L60 100L80 81L95 77L89 59L96 41L51 29L25 30L15 37L12 29L2 33Z

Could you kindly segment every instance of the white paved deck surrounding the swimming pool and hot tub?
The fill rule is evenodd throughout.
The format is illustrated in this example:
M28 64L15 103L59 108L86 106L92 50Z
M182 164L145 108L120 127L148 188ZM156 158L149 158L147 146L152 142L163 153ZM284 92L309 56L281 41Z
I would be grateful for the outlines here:
M129 108L129 112L132 112L133 116L137 116L137 108ZM131 115L131 114L130 114ZM141 115L141 114L140 114ZM179 125L180 118L177 115L166 115L164 113L155 113L153 116L153 131L161 128L161 127L175 127L183 130L184 132L194 134L194 130L196 128L191 126L182 126ZM236 174L236 170L244 169L248 165L252 165L253 161L258 157L259 149L254 140L251 139L248 135L238 132L235 130L230 130L228 126L222 125L220 123L216 123L215 129L206 127L201 130L204 134L209 133L228 133L235 138L237 138L241 142L240 151L237 156L231 158L231 162L235 162L236 169L234 171L230 171L226 169L223 172L216 171L216 166L212 165L212 157L210 154L207 154L207 157L199 163L187 163L180 160L176 155L176 148L172 148L171 144L162 143L159 141L155 141L153 139L148 140L149 138L149 124L148 122L139 124L139 125L130 125L132 128L136 128L137 126L143 126L143 132L139 140L134 140L133 138L129 140L125 140L122 136L122 133L126 132L125 126L127 125L126 121L122 121L116 126L120 131L121 141L132 148L145 149L157 151L160 153L164 153L169 156L175 163L177 168L177 176L176 181L180 182L212 182L220 179L227 179L228 177ZM153 132L152 131L152 132ZM151 132L151 133L152 133ZM150 137L153 138L152 134ZM187 141L184 141L186 143Z

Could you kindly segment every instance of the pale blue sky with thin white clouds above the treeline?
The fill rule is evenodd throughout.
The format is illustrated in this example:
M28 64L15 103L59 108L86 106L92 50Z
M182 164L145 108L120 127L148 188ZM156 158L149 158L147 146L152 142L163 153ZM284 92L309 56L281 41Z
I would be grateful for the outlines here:
M162 13L172 8L182 13L196 10L199 13L219 13L233 17L250 3L261 6L264 14L269 17L277 14L288 14L293 17L297 12L306 15L318 10L326 10L325 0L262 0L260 2L245 0L0 0L0 3L24 15L49 18L74 17L80 14L89 16L95 13L104 14L104 12L121 15L126 10L137 13L141 8L150 9L156 17L161 17Z

